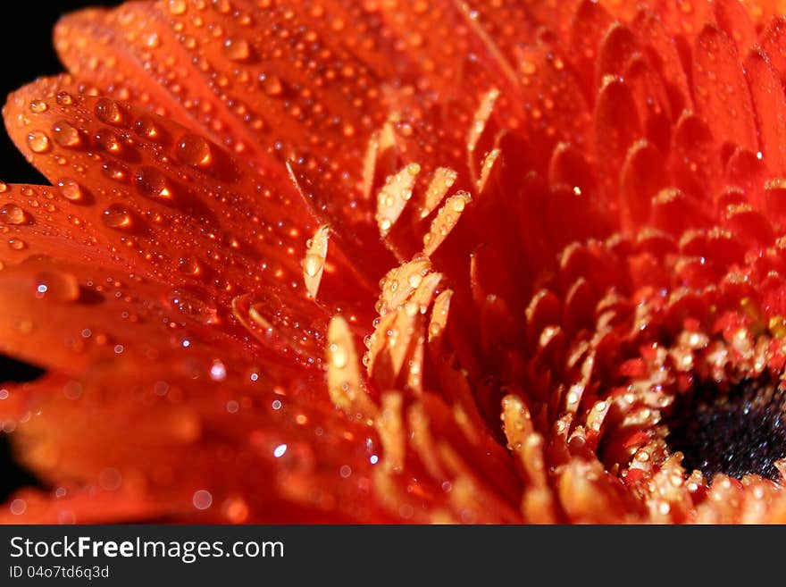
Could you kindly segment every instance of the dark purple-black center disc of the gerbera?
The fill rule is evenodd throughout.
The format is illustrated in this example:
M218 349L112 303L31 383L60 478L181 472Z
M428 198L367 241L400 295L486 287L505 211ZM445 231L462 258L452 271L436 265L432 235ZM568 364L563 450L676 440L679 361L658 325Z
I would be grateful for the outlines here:
M786 391L769 377L728 389L700 382L675 398L665 424L669 449L681 451L688 472L781 478L774 464L786 457Z

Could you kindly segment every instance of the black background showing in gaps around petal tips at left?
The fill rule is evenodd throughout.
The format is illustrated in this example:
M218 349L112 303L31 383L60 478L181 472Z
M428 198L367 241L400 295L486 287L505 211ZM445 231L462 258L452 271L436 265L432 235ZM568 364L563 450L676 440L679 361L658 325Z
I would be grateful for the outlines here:
M54 54L52 29L64 14L85 6L112 6L120 2L100 0L46 0L43 2L0 2L0 100L38 76L54 75L63 65ZM0 180L8 183L46 181L0 131ZM30 381L42 372L0 355L0 385L3 382ZM35 484L36 480L14 462L8 439L0 432L0 503L15 488Z

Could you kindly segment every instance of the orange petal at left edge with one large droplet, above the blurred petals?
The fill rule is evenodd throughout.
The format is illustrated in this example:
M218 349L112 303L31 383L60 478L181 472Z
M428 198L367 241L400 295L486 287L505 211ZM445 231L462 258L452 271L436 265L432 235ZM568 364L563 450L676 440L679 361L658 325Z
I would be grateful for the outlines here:
M47 369L78 374L114 359L144 365L171 352L185 360L189 349L204 356L219 341L227 356L247 353L213 327L227 317L204 290L46 256L6 267L0 280L3 352Z

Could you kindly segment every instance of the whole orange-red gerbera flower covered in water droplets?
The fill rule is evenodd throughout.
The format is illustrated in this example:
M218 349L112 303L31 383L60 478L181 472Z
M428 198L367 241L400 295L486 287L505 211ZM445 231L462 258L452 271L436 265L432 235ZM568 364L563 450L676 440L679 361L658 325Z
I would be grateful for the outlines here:
M786 522L780 4L64 18L4 109L51 489L2 519Z

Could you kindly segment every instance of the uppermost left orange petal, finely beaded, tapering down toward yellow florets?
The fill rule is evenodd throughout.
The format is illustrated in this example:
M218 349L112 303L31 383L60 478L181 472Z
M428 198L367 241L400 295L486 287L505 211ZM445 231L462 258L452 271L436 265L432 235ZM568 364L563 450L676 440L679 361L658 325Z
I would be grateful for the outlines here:
M112 77L117 63L136 71L134 83L144 80L142 85L155 91L151 95L143 88L129 97L146 96L140 104L160 106L187 128L242 155L268 175L271 189L286 191L280 181L288 178L288 164L321 222L343 233L355 250L353 262L368 268L389 259L381 247L376 257L372 253L366 208L349 205L362 183L362 166L355 162L372 130L388 116L380 83L396 78L405 62L391 56L397 53L387 41L380 45L374 15L355 3L332 4L329 11L297 3L271 10L242 2L234 10L225 4L201 10L180 3L129 3L111 12L67 17L58 29L58 46L73 71L90 71L107 91L120 83ZM335 34L348 30L351 21L363 21L363 30ZM276 29L297 29L301 37L268 32ZM213 34L230 30L235 37ZM102 46L99 55L106 58L96 59L91 46ZM325 197L337 191L346 198L344 205ZM366 249L363 255L357 254L360 247Z

